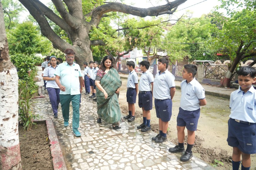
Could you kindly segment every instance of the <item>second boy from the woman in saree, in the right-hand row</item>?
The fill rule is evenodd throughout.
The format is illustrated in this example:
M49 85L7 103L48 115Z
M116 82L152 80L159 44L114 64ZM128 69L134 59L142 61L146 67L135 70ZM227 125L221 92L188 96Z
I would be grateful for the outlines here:
M151 130L150 126L150 110L152 109L152 93L154 76L149 72L150 63L148 61L140 62L140 70L142 75L139 80L139 108L142 108L143 123L137 126L142 132ZM152 86L150 90L150 85Z

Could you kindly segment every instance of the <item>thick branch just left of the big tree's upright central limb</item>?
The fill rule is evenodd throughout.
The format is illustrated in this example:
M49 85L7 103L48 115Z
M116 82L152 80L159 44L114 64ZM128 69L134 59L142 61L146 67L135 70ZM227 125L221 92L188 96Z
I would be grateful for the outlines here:
M77 19L68 13L62 1L61 0L51 0L51 1L56 7L57 11L59 12L61 18L63 18L69 24L69 26L71 26L72 28L76 28Z

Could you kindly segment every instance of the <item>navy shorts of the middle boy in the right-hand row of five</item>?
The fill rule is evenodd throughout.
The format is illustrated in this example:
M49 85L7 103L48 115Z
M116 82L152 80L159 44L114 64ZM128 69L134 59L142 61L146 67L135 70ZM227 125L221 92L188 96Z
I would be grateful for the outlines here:
M157 118L163 122L169 122L172 116L172 99L159 100L155 98Z

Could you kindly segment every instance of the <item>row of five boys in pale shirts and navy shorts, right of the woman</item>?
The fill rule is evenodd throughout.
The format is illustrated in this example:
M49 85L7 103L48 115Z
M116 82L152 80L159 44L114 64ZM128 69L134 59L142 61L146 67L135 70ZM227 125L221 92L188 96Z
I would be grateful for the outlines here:
M142 76L138 86L138 76L134 72L135 63L127 62L130 71L127 79L127 102L129 115L124 116L128 121L135 119L136 96L139 94L139 107L142 108L143 123L137 126L142 132L151 130L150 110L152 96L157 118L159 118L159 134L152 137L156 143L167 141L168 122L172 116L172 99L175 94L174 75L167 70L167 58L158 60L159 72L153 78L148 71L149 62L142 61L140 69ZM184 152L181 161L189 161L193 157L192 147L195 142L195 131L200 117L200 106L205 106L205 90L195 79L197 67L193 64L184 65L181 82L180 108L177 116L178 145L169 148L169 152ZM256 153L256 90L252 83L256 82L256 69L245 66L237 71L240 88L230 95L231 114L228 121L228 145L233 147L232 168L238 170L242 156L241 170L249 170L251 165L250 154ZM151 89L150 89L151 87ZM154 87L154 88L153 88ZM187 149L184 149L185 127L187 128Z

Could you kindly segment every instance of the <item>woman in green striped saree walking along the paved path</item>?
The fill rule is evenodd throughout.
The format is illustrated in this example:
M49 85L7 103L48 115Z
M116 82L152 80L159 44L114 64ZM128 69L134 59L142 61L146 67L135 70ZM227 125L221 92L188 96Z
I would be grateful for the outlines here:
M101 62L101 68L98 70L95 85L98 108L98 123L101 119L113 125L113 129L120 129L120 120L122 118L118 102L118 94L122 81L116 69L112 58L107 55Z

